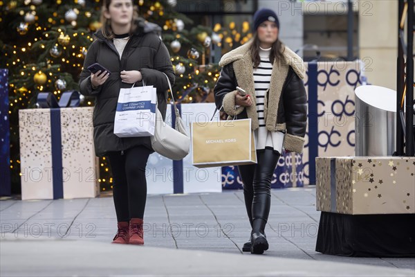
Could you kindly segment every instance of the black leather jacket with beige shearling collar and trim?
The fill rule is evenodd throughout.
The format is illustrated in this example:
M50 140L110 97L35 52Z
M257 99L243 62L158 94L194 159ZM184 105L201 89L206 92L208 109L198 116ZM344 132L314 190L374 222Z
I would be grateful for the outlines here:
M250 55L251 42L223 55L223 66L219 80L214 88L216 107L223 107L229 116L251 118L252 129L259 127L253 63ZM283 60L275 60L270 87L266 91L264 119L270 132L286 132L284 148L301 153L306 134L307 107L306 91L302 79L305 66L302 59L284 46ZM250 107L235 107L236 87L247 91L252 99Z

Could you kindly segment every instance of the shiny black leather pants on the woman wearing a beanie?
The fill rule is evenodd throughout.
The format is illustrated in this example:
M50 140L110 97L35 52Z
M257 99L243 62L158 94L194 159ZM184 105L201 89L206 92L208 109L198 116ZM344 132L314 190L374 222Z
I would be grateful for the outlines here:
M271 180L277 167L279 156L279 152L265 149L257 151L257 164L238 166L243 182L246 212L248 213L253 231L264 233L271 206ZM262 223L259 225L254 224L255 220L259 220Z

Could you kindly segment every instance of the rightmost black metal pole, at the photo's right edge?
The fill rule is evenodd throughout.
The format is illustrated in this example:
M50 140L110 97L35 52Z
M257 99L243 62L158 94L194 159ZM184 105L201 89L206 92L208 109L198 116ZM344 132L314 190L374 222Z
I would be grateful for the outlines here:
M406 79L406 147L407 157L414 156L414 0L408 0L408 21L407 21L407 79Z

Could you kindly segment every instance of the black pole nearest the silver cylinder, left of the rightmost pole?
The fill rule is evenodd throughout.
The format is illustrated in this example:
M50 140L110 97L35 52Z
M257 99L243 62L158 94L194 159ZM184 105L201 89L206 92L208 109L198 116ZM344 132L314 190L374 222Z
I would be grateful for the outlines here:
M403 59L403 44L401 40L401 35L403 32L400 32L400 19L403 17L403 0L398 1L398 72L396 78L396 156L403 156L403 129L402 129L402 119L399 116L400 111L400 101L402 100L403 95L403 86L404 86L404 63Z

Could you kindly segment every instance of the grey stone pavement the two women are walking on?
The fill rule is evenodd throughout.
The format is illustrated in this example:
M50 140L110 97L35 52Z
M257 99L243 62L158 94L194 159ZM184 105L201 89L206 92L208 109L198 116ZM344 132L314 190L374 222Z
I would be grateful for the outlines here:
M415 276L414 258L315 252L315 188L272 195L261 256L241 251L250 235L241 190L149 195L144 247L110 244L111 197L3 200L0 276Z

